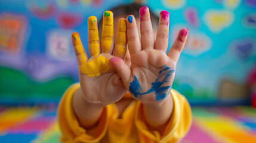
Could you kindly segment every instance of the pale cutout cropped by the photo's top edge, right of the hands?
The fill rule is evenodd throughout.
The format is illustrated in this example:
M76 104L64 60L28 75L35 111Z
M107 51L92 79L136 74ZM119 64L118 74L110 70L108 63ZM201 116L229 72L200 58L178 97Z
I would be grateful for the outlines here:
M186 0L162 0L164 7L169 10L178 10L186 4Z

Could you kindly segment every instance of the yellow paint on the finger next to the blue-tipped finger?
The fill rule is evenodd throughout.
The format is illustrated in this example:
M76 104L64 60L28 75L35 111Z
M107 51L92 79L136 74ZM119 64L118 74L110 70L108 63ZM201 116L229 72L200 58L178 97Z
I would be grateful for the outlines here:
M119 44L118 55L125 54L127 44L127 25L124 19L119 20L116 43Z

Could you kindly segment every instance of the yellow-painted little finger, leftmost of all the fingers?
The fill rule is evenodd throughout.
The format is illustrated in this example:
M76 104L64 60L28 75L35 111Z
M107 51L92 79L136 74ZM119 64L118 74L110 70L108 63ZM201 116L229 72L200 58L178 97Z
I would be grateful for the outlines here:
M78 33L72 33L72 43L73 48L76 54L76 61L78 62L78 66L82 65L82 63L85 63L88 60L88 55L84 50L84 46L82 45L81 39L78 35Z

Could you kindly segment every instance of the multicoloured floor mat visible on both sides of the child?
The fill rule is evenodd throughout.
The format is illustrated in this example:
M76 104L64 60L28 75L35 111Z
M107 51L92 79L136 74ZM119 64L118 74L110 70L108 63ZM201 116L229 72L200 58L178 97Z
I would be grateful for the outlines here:
M256 109L194 107L183 143L256 142ZM0 107L0 142L59 142L56 109Z

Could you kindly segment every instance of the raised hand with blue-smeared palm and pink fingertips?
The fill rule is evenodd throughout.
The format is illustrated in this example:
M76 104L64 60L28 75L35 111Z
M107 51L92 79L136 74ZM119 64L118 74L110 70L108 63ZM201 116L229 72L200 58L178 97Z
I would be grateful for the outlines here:
M159 104L171 91L175 67L187 39L187 29L180 33L166 55L168 49L169 13L160 13L158 33L154 41L149 8L140 9L140 32L138 36L133 15L127 17L128 48L131 67L119 58L111 58L112 64L122 78L125 88L143 104ZM141 49L142 46L142 49Z

